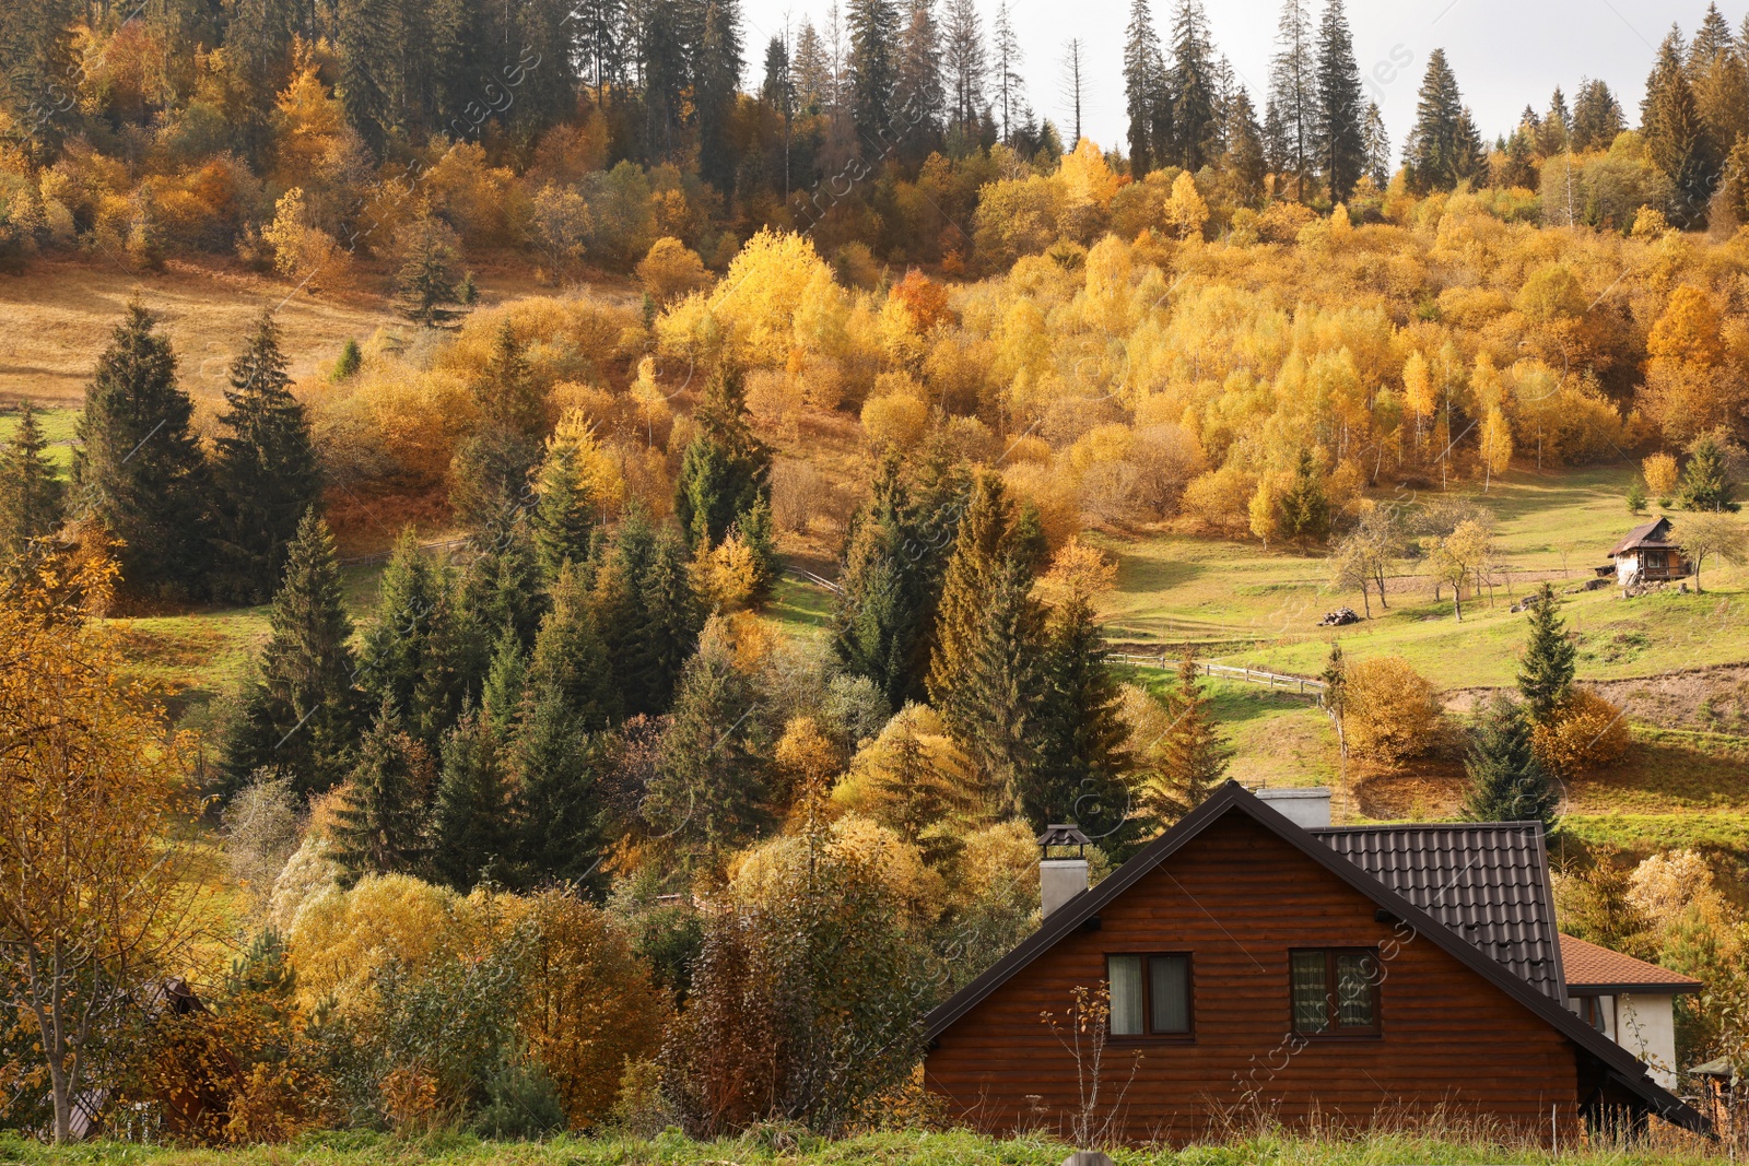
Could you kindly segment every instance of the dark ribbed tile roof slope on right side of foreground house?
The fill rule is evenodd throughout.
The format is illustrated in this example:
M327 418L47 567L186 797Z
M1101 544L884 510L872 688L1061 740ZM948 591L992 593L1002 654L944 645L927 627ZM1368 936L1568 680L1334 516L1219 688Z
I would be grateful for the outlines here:
M1567 1002L1539 822L1312 834L1544 996Z

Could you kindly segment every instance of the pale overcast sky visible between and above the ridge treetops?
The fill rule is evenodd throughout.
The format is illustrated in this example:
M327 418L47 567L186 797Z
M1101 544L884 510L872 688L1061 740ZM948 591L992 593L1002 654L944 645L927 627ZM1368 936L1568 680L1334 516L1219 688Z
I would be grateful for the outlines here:
M843 0L840 0L843 2ZM1732 26L1742 23L1744 0L1721 5ZM812 16L817 26L831 0L743 0L749 87L763 75L764 45ZM939 0L937 0L939 3ZM1167 35L1174 0L1154 0L1154 26ZM1263 114L1279 0L1205 0L1216 47L1251 87ZM981 0L985 30L995 0ZM1385 112L1392 150L1415 119L1427 54L1443 47L1476 126L1490 142L1509 131L1525 103L1548 108L1555 86L1572 93L1583 77L1600 77L1620 98L1628 122L1639 124L1639 101L1653 54L1672 21L1691 35L1707 0L1348 0L1354 52L1369 94ZM1058 63L1070 37L1086 42L1093 63L1083 103L1083 133L1111 147L1125 135L1123 28L1130 0L1013 0L1014 28L1027 54L1032 107L1063 126L1072 117L1062 100ZM1322 2L1313 0L1313 12Z

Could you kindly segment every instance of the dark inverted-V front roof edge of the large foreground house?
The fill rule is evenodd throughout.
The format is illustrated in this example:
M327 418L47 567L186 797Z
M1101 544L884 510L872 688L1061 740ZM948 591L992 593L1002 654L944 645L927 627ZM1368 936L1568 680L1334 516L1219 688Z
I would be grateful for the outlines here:
M983 975L953 993L950 1000L925 1017L925 1040L936 1040L936 1037L953 1026L955 1021L971 1012L1014 974L1028 967L1034 960L1055 947L1065 937L1079 932L1083 923L1098 914L1105 904L1135 886L1160 864L1175 855L1212 823L1230 813L1242 813L1252 818L1307 858L1324 867L1355 892L1371 899L1376 906L1411 927L1418 935L1425 935L1429 942L1453 956L1459 963L1492 982L1523 1007L1530 1009L1530 1012L1541 1017L1546 1024L1551 1024L1560 1035L1567 1037L1567 1040L1602 1063L1602 1066L1609 1070L1609 1077L1639 1096L1651 1112L1658 1114L1665 1121L1686 1126L1688 1129L1700 1133L1711 1131L1707 1119L1683 1103L1669 1089L1655 1082L1648 1075L1646 1066L1641 1065L1632 1052L1590 1024L1583 1023L1557 998L1551 998L1548 993L1534 988L1529 981L1516 975L1508 965L1485 954L1473 942L1460 939L1457 932L1450 930L1445 923L1427 914L1408 897L1397 893L1355 862L1345 858L1315 834L1303 830L1284 818L1279 811L1272 809L1263 799L1247 792L1237 781L1223 783L1221 788L1209 797L1209 801L1184 815L1177 825L1137 851L1133 858L1112 871L1104 883L1081 892L1058 907L1049 918L1044 920L1037 932L1023 939Z

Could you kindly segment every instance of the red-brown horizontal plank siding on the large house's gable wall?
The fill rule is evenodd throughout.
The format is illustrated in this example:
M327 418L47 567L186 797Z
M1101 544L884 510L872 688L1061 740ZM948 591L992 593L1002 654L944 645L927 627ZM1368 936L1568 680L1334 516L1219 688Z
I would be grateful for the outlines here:
M1189 951L1195 1040L1107 1047L1102 1093L1130 1082L1119 1121L1130 1142L1182 1143L1258 1112L1357 1126L1441 1107L1544 1140L1551 1115L1564 1140L1576 1131L1572 1044L1425 937L1404 942L1375 909L1228 815L1107 904L1100 930L1063 939L941 1033L925 1080L958 1121L1067 1133L1076 1063L1041 1014L1062 1016L1076 986L1097 988L1107 953ZM1287 951L1324 946L1382 949L1380 1035L1294 1051Z

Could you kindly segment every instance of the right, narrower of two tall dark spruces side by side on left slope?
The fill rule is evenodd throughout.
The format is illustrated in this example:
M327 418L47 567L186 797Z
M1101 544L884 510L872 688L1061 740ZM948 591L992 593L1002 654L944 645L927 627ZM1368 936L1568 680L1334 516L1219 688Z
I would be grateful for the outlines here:
M262 313L231 365L229 411L219 418L231 432L217 441L213 458L219 589L243 603L273 594L304 512L322 498L310 420L290 390L278 327L273 313Z

